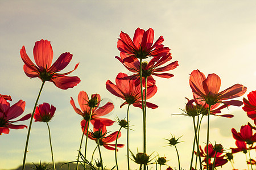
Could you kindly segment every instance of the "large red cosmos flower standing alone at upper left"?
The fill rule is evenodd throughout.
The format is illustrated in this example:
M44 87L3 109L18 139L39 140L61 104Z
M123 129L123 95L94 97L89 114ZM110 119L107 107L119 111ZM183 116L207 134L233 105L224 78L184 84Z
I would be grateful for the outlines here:
M74 70L68 73L57 73L68 65L73 55L63 53L52 65L53 51L50 41L41 40L35 42L34 59L37 66L27 56L24 46L20 49L20 56L24 62L23 70L30 78L38 77L42 81L52 82L63 90L72 88L80 82L77 76L66 76L76 70L79 63L76 64Z

